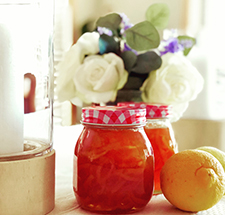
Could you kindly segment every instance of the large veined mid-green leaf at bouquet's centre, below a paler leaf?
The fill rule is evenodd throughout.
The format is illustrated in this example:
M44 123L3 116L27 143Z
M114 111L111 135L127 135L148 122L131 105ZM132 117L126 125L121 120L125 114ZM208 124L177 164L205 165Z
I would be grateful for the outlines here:
M140 22L125 31L127 44L136 51L157 48L160 43L159 33L148 21Z

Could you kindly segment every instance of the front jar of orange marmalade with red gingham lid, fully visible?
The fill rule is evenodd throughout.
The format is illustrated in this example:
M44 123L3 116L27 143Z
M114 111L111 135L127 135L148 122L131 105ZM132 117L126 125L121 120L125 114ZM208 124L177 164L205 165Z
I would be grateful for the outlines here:
M145 109L116 106L82 109L73 189L83 209L130 213L151 199L154 156L143 129L145 114Z

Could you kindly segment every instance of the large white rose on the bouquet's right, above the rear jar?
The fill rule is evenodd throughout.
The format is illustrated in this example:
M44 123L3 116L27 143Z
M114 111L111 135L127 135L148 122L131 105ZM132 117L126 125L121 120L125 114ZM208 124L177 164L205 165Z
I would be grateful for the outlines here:
M145 102L173 105L173 119L177 121L196 99L204 80L191 62L180 53L162 56L161 67L150 73L141 87Z

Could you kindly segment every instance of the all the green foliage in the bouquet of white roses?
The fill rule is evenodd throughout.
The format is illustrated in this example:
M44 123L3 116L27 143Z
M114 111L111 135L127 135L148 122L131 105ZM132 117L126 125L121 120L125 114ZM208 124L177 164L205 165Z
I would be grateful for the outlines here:
M160 36L157 29L166 28L170 16L167 4L157 3L151 5L146 11L146 20L137 23L121 32L124 28L122 17L117 13L110 13L100 17L97 27L104 27L112 31L112 36L102 34L99 39L100 54L113 52L122 58L125 69L129 72L128 80L123 89L138 90L151 71L157 70L162 64L162 59L152 49L160 44ZM125 29L125 28L124 28ZM106 32L107 33L107 32ZM179 36L179 43L183 45L184 55L187 55L195 45L194 38ZM121 49L122 41L132 51ZM134 51L135 50L135 51Z

